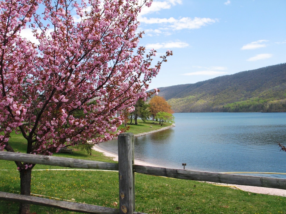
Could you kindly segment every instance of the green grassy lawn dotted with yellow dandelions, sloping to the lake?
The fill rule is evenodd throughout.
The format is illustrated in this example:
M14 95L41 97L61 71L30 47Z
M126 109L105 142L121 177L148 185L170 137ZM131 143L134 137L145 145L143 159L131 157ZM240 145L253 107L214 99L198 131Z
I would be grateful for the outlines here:
M152 124L152 123L151 123ZM149 123L131 125L150 131ZM165 124L163 127L166 126ZM152 128L161 128L152 124ZM138 129L140 130L140 129ZM133 132L134 134L140 132ZM13 135L11 145L25 152L25 141ZM74 148L73 154L54 154L71 158L114 162L101 153L86 154ZM118 172L62 170L63 167L36 165L32 171L33 194L119 208ZM0 191L19 193L20 178L12 161L0 160ZM135 208L145 213L286 213L286 197L244 192L204 182L135 174ZM0 213L18 213L19 204L1 201ZM32 213L74 213L31 205Z

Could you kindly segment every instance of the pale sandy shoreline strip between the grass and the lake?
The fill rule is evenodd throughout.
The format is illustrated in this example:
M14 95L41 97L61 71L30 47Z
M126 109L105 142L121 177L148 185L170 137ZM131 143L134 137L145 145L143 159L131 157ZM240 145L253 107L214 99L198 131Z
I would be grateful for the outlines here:
M165 129L172 128L172 127L174 127L174 126L167 126L167 127L162 128L162 129L159 129L159 130L137 134L137 135L134 135L134 137L145 135L145 134L150 134L153 132L158 132L158 131L165 130ZM103 150L98 145L94 145L93 149L98 151L98 152L102 152L105 156L112 157L114 161L118 161L118 155L115 153ZM140 161L137 159L134 159L134 163L135 163L135 165L162 167L162 166L158 166L158 165L148 163L145 161ZM208 182L208 183L212 183L212 182ZM219 185L219 186L226 186L228 188L239 189L241 191L247 191L247 192L252 192L252 193L278 195L278 196L286 197L286 190L285 189L274 189L274 188L267 188L267 187L254 187L254 186L221 184L221 183L212 183L212 184Z

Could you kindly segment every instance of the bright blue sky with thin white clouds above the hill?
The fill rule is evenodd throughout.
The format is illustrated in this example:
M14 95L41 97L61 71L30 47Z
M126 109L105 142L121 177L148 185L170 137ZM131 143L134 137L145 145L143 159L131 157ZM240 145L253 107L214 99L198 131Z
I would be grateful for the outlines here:
M285 0L153 0L138 18L139 45L173 56L149 89L285 63L285 9Z

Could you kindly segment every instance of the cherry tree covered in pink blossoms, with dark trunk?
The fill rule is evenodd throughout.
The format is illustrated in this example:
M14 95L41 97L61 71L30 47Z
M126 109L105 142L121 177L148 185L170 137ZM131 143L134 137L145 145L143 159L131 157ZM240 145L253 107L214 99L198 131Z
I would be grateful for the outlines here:
M0 1L0 150L14 152L13 131L26 139L28 154L39 155L112 139L124 119L116 113L131 112L148 96L148 84L172 55L153 65L156 51L138 47L136 17L151 2ZM79 109L84 114L75 117ZM21 194L30 195L34 164L15 163Z

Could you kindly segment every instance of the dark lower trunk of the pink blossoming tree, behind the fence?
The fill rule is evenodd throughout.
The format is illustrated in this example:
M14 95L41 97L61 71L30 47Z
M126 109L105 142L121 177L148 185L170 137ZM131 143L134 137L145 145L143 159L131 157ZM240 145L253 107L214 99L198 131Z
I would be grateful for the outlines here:
M30 195L32 167L28 167L27 169L20 169L19 172L20 172L20 179L21 179L21 195ZM30 204L20 203L19 213L29 214Z

